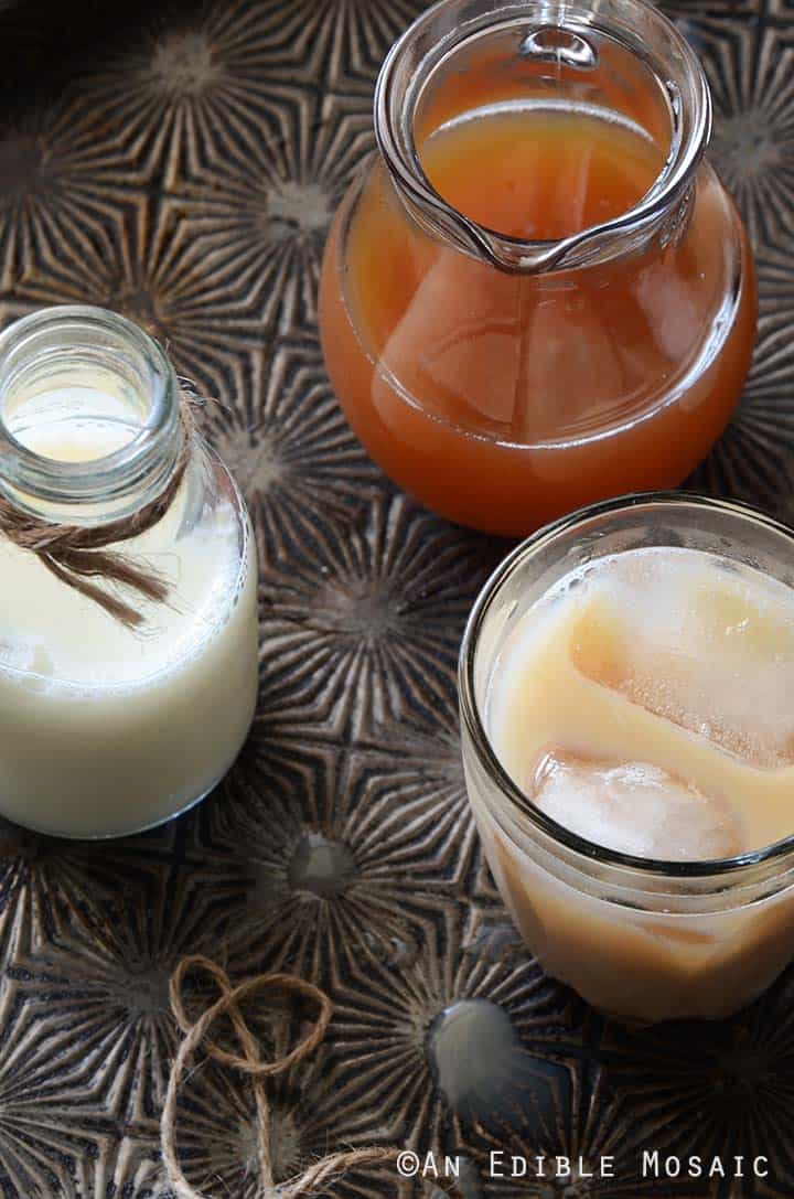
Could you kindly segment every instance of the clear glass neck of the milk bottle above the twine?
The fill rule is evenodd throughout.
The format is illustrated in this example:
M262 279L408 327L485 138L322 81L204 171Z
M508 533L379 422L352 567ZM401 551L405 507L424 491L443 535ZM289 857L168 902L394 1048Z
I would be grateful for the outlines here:
M46 308L0 336L0 492L56 523L132 516L182 446L180 390L157 342L102 308Z

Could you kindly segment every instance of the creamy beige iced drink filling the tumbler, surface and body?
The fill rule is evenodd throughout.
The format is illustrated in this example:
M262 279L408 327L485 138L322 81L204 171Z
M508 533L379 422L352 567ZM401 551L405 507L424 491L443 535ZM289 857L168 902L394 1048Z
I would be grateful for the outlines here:
M507 637L486 723L547 815L591 842L674 861L794 832L794 591L688 549L572 572ZM549 972L632 1019L720 1016L794 952L792 898L712 914L579 893L473 802L517 924Z

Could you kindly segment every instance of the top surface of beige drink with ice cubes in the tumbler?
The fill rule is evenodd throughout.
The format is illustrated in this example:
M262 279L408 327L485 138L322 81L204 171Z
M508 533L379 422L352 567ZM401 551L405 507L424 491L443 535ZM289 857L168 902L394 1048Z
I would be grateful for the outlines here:
M566 827L680 861L794 832L794 592L782 584L696 550L620 554L528 614L503 663L494 748Z

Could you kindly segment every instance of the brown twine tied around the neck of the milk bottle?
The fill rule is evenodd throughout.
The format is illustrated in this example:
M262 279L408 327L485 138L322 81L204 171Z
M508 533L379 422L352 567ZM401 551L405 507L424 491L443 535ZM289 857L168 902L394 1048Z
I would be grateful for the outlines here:
M182 483L193 450L193 416L187 396L181 406L182 445L168 483L160 495L137 512L102 525L59 524L35 517L0 495L0 535L30 550L55 578L98 604L128 628L143 622L142 614L119 596L92 582L113 583L162 603L168 584L152 568L136 566L119 550L108 549L154 529L168 512Z

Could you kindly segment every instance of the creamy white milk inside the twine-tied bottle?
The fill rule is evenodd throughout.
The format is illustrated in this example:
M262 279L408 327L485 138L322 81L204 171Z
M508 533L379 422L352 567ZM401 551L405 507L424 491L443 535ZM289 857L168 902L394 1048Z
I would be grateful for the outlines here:
M60 460L130 440L113 421L18 434ZM130 552L170 584L130 629L0 538L0 812L65 836L143 829L205 794L245 739L257 693L255 567L228 498L182 487ZM136 596L136 603L138 598Z

